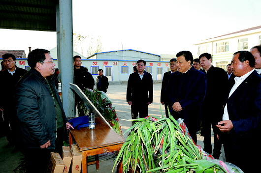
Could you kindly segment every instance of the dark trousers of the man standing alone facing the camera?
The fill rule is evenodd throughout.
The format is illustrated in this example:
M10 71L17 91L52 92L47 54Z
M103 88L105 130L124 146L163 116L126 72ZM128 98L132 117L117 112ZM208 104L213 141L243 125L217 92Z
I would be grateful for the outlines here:
M140 103L140 102L132 102L131 105L131 118L135 119L138 117L140 118L144 118L146 116L148 116L148 103Z

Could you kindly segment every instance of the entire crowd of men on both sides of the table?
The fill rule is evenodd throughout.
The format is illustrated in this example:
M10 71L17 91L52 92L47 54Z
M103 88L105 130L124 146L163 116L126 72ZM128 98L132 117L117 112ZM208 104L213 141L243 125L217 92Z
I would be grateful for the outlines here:
M59 69L48 50L35 49L28 55L30 71L15 65L12 54L2 56L0 71L2 98L0 111L8 145L24 153L27 172L46 172L50 152L62 152L67 121L58 94ZM81 57L73 57L74 83L82 90L94 89L95 80ZM164 73L161 103L166 117L182 118L197 143L201 128L203 150L218 159L222 144L226 161L239 166L245 173L253 173L258 159L246 159L261 154L258 143L261 129L261 45L250 52L233 54L227 72L212 65L208 53L194 59L191 52L181 51L169 61L170 71ZM152 75L145 71L146 61L140 59L133 67L127 86L127 102L131 118L148 116L153 102ZM107 92L108 78L98 70L97 89ZM76 105L79 97L75 97ZM79 113L81 116L82 113ZM211 144L214 132L214 148ZM247 147L247 146L251 147ZM16 149L16 150L17 150ZM16 152L14 149L13 152ZM41 169L39 169L41 168Z

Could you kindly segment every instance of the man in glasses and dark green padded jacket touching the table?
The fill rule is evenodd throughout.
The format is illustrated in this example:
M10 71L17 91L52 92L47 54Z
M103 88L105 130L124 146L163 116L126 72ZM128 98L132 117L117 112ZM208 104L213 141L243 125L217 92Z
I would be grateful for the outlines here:
M15 89L19 145L27 161L27 173L45 173L50 152L62 154L66 129L73 127L65 117L55 87L55 63L50 52L33 50L28 55L28 64L31 70Z

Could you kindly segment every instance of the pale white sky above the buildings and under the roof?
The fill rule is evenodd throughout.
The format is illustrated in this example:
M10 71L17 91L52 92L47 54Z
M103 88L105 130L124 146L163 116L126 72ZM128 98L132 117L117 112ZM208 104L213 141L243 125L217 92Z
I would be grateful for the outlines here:
M73 33L103 52L176 55L200 40L261 25L261 0L72 0ZM0 29L1 50L56 47L56 32ZM79 50L79 49L78 49ZM85 56L85 55L84 55Z

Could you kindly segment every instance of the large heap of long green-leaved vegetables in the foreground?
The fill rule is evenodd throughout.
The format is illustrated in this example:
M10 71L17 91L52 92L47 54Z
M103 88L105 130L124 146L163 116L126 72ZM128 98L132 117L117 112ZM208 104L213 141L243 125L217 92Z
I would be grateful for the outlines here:
M234 173L222 161L207 160L172 116L131 121L113 170L122 161L124 173Z

